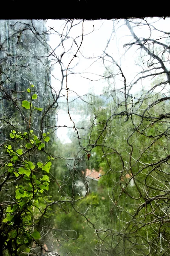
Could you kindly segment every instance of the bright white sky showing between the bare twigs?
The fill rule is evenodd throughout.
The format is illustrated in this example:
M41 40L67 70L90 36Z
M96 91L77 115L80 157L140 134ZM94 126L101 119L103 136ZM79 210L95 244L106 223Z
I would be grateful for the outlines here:
M154 26L156 26L156 21L159 20L159 26L156 27L169 31L169 25L170 25L170 19L166 18L165 20L155 17L155 18L148 18L147 19L149 23L153 23ZM139 21L139 20L138 20ZM79 23L80 20L75 20L75 23ZM66 29L63 31L63 23L65 23L64 20L48 20L47 21L47 27L53 27L55 31L57 31L59 34L64 34L66 32ZM118 62L119 65L121 65L122 71L126 76L127 83L132 80L132 77L137 72L141 71L141 67L136 64L140 64L139 54L136 55L136 49L138 47L132 47L132 49L129 50L129 52L125 55L125 47L123 45L125 43L130 42L130 31L128 30L127 26L124 25L125 21L117 20L115 22L115 27L113 27L113 20L91 20L91 21L84 21L84 35L82 46L80 48L80 52L86 57L83 58L82 55L78 52L77 58L74 58L72 64L77 64L77 66L74 68L74 72L80 72L84 73L82 76L85 76L88 79L82 78L80 74L75 74L68 76L68 88L70 90L76 91L76 93L80 96L82 96L85 93L95 93L100 94L102 93L103 87L108 86L107 81L105 80L98 80L100 77L96 75L92 75L91 73L95 73L98 75L103 75L105 72L105 67L103 66L102 59L94 58L102 56L103 51L105 50L105 47L108 43L108 40L111 36L112 31L112 39L110 41L110 44L107 48L107 52ZM147 28L147 26L146 26ZM144 29L144 26L136 26L135 30L136 35L139 37L147 38L149 37L150 31L147 29ZM79 38L76 38L78 35L80 35ZM82 39L82 23L80 23L77 26L74 26L71 29L70 38L68 38L67 41L64 42L63 46L65 47L65 50L67 51L71 44L73 43L72 38L76 38L77 45L80 44L80 41ZM155 35L160 37L161 34ZM153 36L152 36L153 37ZM59 38L60 36L57 35L50 35L50 41L49 44L53 49L57 47L59 44ZM65 58L63 58L63 61L65 62L65 67L67 67L68 63L73 58L73 55L75 54L77 50L76 45L74 44L73 49L71 49L67 54L65 54ZM55 50L55 53L57 56L60 56L63 52L63 47L57 47ZM92 58L93 57L93 58ZM98 61L96 61L98 59ZM107 64L112 65L112 63ZM54 67L52 73L57 79L61 79L61 72L58 64ZM96 80L91 81L90 79ZM58 87L60 87L59 81L51 78L52 87L54 87L55 90L57 90ZM122 86L122 81L117 80L116 82L117 86ZM119 85L121 84L121 85ZM149 86L150 80L145 79L145 86ZM133 91L139 90L139 87L134 87ZM65 88L63 90L63 93L65 94ZM74 96L74 93L71 95ZM64 100L66 98L62 98ZM66 102L66 100L65 100ZM79 115L76 115L76 113L72 116L76 121L79 120ZM67 111L63 111L62 109L59 110L59 119L57 122L57 125L68 125L71 126L71 122L69 120L69 116L67 114ZM67 128L60 128L57 130L57 136L60 138L62 143L71 142L71 140L67 136Z

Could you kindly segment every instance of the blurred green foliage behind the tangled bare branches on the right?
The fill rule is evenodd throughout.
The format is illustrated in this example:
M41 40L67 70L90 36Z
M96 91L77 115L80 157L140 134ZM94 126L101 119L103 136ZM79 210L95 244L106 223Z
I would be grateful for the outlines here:
M109 99L109 93L105 94ZM88 145L87 140L80 140L91 157L85 160L85 154L83 167L75 165L79 172L102 170L103 176L96 182L96 192L90 190L75 203L76 214L69 208L68 215L56 218L57 226L61 220L65 229L77 231L77 236L63 235L64 240L70 238L63 242L65 253L80 256L82 250L89 256L92 244L102 256L141 255L141 251L160 256L161 248L169 255L169 115L162 115L169 113L169 102L164 102L161 93L145 95L136 100L135 108L127 99L128 118L123 99L120 105L100 101L102 110L97 103L91 110L94 119L86 135ZM81 152L76 140L73 144ZM78 176L72 177L74 184Z

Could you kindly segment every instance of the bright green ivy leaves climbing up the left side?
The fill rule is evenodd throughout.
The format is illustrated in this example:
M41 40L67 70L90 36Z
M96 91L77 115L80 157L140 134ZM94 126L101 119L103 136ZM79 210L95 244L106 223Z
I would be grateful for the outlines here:
M32 87L27 89L28 93L31 93ZM37 95L34 94L31 99L37 99ZM31 119L31 101L23 101L22 106L30 111ZM1 227L3 250L7 249L11 256L29 253L33 241L41 239L39 221L41 216L47 215L45 191L48 191L50 183L45 173L51 169L52 157L46 157L42 163L35 160L34 154L45 148L45 143L50 140L47 135L38 138L30 127L24 132L11 130L11 144L4 145L8 154L4 163L7 177L10 183L14 183L16 178L20 181L15 186L12 201L4 208L3 229Z

